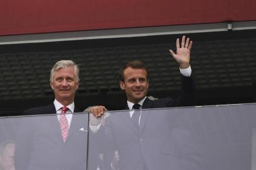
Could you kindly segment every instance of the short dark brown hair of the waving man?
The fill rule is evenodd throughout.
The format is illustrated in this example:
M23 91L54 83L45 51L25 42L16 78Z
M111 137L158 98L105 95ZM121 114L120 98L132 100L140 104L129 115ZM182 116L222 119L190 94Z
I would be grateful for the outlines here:
M124 82L124 71L125 69L127 69L128 67L131 67L132 69L144 69L147 73L147 80L149 79L149 75L148 75L148 69L147 67L143 64L143 62L141 62L140 60L132 60L127 62L127 64L125 64L122 69L120 69L119 72L119 81L123 81Z

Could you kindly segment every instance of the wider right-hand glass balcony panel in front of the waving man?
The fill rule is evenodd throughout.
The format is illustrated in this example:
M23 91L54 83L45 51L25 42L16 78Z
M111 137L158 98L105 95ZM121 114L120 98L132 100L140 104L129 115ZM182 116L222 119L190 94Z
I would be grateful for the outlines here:
M102 169L254 170L255 129L253 104L110 111L90 142Z

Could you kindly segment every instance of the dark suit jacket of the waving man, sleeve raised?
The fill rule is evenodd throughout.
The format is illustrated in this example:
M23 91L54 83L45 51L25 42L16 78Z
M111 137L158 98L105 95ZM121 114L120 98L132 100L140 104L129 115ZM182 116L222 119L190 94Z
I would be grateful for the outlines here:
M178 99L163 98L155 101L146 98L143 109L189 106L194 103L194 82L182 76L182 92ZM128 110L128 106L125 110ZM193 135L177 120L182 115L171 110L142 110L139 132L134 127L129 111L112 113L102 127L107 148L118 150L120 169L148 170L201 169L200 156L194 149ZM107 140L108 139L108 140Z

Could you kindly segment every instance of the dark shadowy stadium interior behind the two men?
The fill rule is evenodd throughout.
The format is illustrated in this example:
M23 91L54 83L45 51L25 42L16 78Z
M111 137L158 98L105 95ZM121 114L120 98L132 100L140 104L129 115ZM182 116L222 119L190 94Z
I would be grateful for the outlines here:
M192 74L197 84L196 105L256 101L256 30L185 34L194 44ZM54 95L49 85L52 65L71 59L80 66L76 105L84 109L105 105L121 110L125 94L117 79L128 60L142 60L149 70L149 96L177 96L178 65L168 49L182 35L107 38L66 42L0 45L0 115L48 105Z

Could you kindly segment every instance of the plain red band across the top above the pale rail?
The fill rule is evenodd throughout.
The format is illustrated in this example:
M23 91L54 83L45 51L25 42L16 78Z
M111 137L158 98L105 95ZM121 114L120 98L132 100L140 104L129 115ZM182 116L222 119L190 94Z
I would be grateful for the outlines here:
M255 0L1 0L0 35L256 20Z

